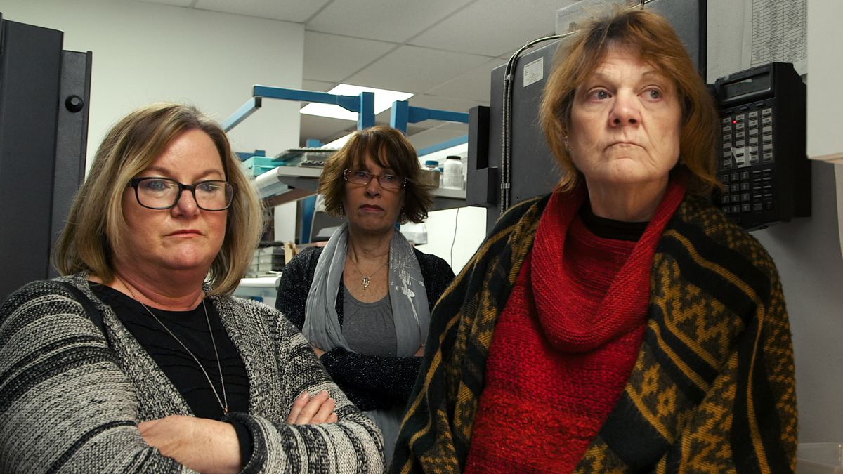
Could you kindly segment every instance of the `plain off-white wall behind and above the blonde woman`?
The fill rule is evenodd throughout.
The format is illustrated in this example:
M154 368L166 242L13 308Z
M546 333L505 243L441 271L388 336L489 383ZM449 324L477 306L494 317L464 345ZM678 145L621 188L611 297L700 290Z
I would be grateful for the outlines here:
M115 121L175 100L222 121L255 83L301 88L302 24L126 0L3 0L3 19L64 32L93 51L88 157ZM298 146L298 102L265 100L230 136L238 151Z

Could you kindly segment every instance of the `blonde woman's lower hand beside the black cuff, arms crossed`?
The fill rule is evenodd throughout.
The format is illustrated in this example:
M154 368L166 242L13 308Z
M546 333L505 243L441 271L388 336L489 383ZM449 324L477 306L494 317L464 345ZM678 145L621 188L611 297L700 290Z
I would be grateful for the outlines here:
M230 423L171 415L138 423L137 428L147 444L194 471L240 471L240 445Z

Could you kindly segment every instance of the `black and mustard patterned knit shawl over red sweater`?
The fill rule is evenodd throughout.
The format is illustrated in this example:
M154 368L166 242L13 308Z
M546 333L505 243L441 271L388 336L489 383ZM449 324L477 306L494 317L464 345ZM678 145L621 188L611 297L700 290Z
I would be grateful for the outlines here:
M507 211L433 310L393 472L462 470L497 317L547 201ZM625 391L576 472L793 471L790 325L758 241L685 197L652 261L648 311Z

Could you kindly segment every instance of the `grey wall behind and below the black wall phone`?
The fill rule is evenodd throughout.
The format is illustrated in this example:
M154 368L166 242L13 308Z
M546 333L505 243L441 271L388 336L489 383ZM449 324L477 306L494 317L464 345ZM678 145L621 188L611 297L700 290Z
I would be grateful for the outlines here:
M741 69L743 22L744 2L709 0L708 82ZM823 58L808 58L812 60ZM776 261L787 299L796 355L799 441L843 442L843 257L834 167L814 162L812 174L811 189L804 189L813 198L812 217L753 234Z

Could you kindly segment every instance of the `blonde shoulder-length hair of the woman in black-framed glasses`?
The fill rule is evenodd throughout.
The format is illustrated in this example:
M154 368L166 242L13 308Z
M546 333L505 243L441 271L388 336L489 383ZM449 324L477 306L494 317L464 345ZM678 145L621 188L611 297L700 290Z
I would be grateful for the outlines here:
M191 130L211 137L223 159L225 179L237 189L228 207L223 246L207 278L211 294L230 294L237 288L263 229L262 204L217 122L195 107L173 103L134 110L105 135L56 242L53 264L62 275L88 271L105 283L114 279L112 256L128 230L122 196L129 180L147 169L176 137Z

